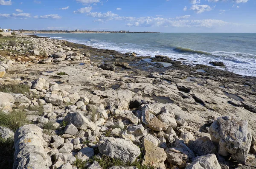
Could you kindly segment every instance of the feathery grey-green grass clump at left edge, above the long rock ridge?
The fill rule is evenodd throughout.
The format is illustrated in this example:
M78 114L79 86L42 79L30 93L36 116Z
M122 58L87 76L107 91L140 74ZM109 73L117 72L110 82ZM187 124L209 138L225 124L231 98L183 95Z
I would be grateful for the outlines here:
M15 132L25 124L28 124L28 120L23 110L15 109L9 114L0 111L0 126L8 127Z

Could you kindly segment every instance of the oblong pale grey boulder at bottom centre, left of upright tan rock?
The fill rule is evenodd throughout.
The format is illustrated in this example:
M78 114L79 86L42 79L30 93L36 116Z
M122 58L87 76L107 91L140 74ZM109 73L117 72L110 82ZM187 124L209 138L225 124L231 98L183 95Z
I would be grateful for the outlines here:
M131 141L121 138L103 137L98 142L99 152L110 158L121 159L124 162L134 162L140 155L140 148Z

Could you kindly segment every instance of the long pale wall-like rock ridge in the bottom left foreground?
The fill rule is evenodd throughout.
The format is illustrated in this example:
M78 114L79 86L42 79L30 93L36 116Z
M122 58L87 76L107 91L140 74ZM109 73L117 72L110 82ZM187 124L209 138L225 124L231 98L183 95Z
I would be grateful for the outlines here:
M34 124L20 127L14 137L14 169L48 169L52 161L44 146L43 130Z

